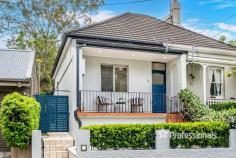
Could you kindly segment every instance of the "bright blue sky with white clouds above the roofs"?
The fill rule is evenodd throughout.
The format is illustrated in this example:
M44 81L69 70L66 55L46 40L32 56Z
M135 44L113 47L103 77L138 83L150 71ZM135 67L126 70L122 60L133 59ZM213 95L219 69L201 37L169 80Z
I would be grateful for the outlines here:
M105 0L105 4L126 3L136 0ZM138 1L138 0L137 0ZM139 0L141 1L141 0ZM181 24L192 31L219 39L226 36L227 41L236 40L236 0L179 0L181 4ZM170 10L170 0L150 0L139 3L104 5L93 21L102 21L125 12L165 18ZM5 38L0 38L0 48L6 48Z

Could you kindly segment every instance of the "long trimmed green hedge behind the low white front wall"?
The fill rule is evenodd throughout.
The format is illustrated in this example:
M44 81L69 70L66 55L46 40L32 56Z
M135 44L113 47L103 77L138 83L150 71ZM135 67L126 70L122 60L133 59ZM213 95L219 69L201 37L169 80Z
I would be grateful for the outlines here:
M229 126L222 122L163 123L146 125L94 125L85 126L91 132L91 145L99 150L151 149L155 130L169 129L171 134L208 134L214 138L171 137L172 148L226 147Z

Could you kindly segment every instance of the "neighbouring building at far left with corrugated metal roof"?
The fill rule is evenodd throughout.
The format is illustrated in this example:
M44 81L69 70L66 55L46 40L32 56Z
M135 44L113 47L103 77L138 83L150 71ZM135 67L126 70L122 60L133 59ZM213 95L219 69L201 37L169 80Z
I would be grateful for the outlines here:
M33 96L38 92L35 53L0 49L0 103L5 95L19 92ZM0 151L9 150L0 136Z

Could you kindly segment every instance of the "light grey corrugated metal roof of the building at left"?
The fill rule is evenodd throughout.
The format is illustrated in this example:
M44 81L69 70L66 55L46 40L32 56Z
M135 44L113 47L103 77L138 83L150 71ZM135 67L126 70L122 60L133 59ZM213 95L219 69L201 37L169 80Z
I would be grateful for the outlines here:
M35 53L0 49L0 80L22 81L31 78Z

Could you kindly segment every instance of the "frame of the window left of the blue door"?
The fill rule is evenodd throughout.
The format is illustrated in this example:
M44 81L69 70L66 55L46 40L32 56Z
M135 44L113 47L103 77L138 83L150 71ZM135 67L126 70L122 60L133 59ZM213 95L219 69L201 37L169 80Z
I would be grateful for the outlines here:
M121 91L116 91L116 67L117 66L121 66L121 67L125 67L127 69L127 91L125 92L129 92L129 66L128 65L123 65L123 64L101 64L100 65L100 71L102 70L102 66L112 66L113 68L113 91L111 92L121 92ZM102 72L100 72L101 74L101 91L102 92L106 92L102 90Z

